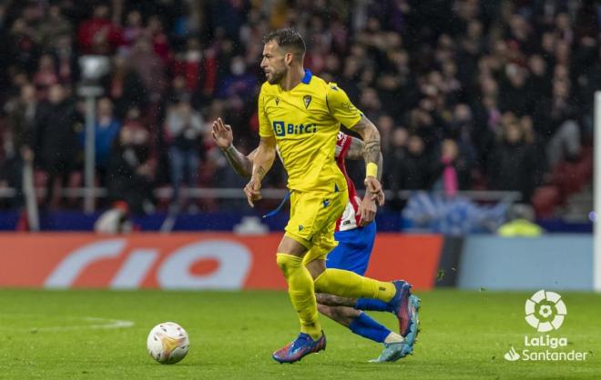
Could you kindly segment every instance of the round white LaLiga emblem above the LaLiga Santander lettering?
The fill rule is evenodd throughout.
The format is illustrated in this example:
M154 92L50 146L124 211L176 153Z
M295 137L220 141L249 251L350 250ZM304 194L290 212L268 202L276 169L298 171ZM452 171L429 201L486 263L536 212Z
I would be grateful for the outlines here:
M538 332L557 330L564 323L567 308L561 295L539 290L525 302L525 320Z

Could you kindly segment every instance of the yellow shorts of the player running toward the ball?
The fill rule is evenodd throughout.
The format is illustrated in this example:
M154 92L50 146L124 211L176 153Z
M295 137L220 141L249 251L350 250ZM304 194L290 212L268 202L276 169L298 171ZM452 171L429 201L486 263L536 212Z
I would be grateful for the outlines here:
M325 258L338 245L334 240L336 220L348 202L346 189L332 193L292 191L285 235L309 250L303 258L304 264Z

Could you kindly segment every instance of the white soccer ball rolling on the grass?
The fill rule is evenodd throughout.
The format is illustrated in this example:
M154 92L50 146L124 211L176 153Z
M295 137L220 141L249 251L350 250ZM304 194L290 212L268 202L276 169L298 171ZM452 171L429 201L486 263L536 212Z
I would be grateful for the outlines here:
M148 354L162 365L178 363L188 354L188 333L174 322L156 325L148 334Z

